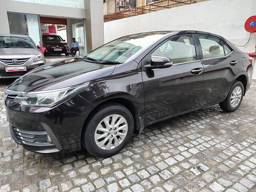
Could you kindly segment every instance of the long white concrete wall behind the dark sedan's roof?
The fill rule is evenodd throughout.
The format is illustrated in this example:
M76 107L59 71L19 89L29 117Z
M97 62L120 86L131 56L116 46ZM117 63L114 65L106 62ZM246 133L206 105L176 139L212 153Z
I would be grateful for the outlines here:
M224 36L231 42L243 45L250 33L244 22L256 15L256 0L210 0L130 18L104 23L105 43L115 38L138 32L156 30L202 30ZM250 43L240 48L254 52L256 33Z

